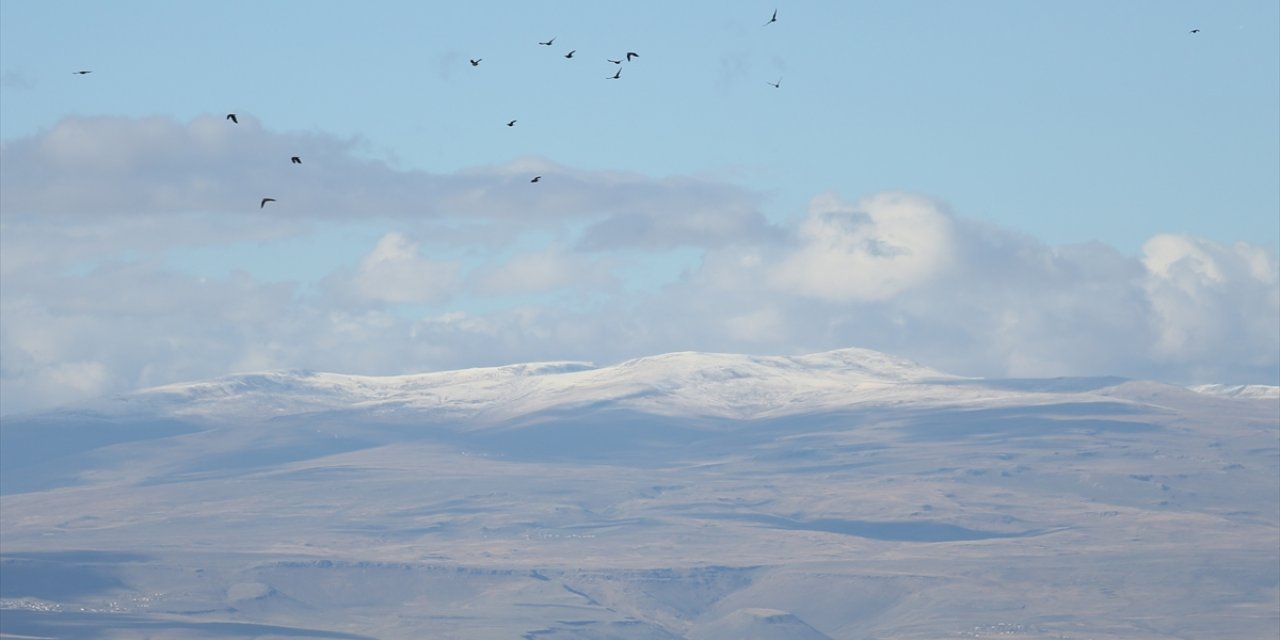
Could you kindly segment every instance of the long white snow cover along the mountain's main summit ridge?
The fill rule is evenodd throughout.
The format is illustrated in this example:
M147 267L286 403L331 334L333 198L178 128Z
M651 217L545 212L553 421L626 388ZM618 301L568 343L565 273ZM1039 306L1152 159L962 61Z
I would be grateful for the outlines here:
M677 352L612 366L534 362L394 376L268 371L156 387L108 406L187 417L365 410L502 421L609 406L650 415L769 419L855 406L1034 403L1038 393L1044 402L1056 397L846 348L805 356Z

